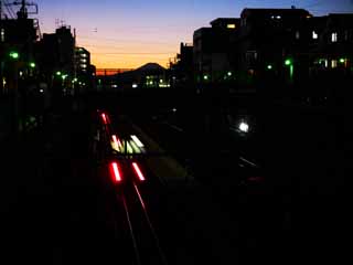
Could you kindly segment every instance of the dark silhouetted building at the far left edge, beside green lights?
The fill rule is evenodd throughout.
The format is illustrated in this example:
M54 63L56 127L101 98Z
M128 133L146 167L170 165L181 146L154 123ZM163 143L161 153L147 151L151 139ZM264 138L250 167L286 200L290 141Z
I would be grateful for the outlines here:
M25 127L33 102L29 88L35 82L38 20L29 19L25 9L17 14L0 19L0 139Z

